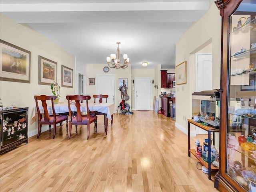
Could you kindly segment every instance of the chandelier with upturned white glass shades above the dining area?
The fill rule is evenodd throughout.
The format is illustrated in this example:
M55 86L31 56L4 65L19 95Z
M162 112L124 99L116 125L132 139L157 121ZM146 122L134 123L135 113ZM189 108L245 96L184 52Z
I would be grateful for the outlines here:
M119 44L121 44L120 42L116 42L116 44L118 44L117 46L117 59L116 59L116 54L110 54L110 57L107 57L107 62L108 62L108 66L110 68L117 68L119 69L121 68L127 68L128 67L128 63L129 63L129 58L127 56L127 54L124 54L124 64L120 65L120 49L119 49ZM110 66L110 62L112 64L112 66Z

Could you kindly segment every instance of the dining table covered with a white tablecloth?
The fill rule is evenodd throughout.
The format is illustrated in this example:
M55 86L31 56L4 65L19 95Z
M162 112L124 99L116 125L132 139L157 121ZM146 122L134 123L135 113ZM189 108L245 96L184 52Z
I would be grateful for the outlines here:
M86 103L80 103L81 112L87 112ZM111 126L113 125L113 114L116 113L116 106L114 103L89 103L88 104L90 111L96 111L100 113L104 113L104 128L105 133L108 132L108 119L111 120ZM75 104L70 104L70 108L72 112L76 111ZM47 106L49 114L52 114L52 105L48 104ZM43 114L44 109L42 106L39 106L40 112ZM54 110L56 114L62 114L68 112L68 103L67 102L59 102L58 104L54 104ZM36 106L33 108L31 124L38 120L38 114L36 110Z

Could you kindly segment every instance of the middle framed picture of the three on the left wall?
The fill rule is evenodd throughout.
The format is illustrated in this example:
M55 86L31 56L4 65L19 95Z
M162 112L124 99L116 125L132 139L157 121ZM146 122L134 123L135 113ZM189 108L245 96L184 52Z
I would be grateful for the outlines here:
M38 55L38 84L51 85L57 80L57 63Z

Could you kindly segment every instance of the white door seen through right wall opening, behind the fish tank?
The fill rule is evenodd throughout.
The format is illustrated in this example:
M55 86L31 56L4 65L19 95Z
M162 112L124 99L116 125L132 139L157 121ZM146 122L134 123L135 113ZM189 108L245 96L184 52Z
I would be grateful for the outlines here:
M196 92L212 90L212 54L196 54ZM196 134L208 134L196 127Z

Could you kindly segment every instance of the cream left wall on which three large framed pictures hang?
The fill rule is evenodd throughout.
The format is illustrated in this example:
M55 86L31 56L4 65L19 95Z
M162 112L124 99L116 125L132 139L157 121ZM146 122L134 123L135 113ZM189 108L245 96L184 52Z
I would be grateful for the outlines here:
M1 40L31 52L30 83L0 81L0 98L4 106L15 104L28 107L28 136L31 137L38 130L36 122L30 124L35 106L34 95L52 95L50 85L38 84L38 55L57 62L57 79L60 84L61 65L72 68L75 76L75 57L31 28L18 24L3 14L0 14L0 26ZM61 87L60 102L66 101L66 95L74 94L75 84L73 77L73 88ZM44 126L43 130L48 130L48 127Z

